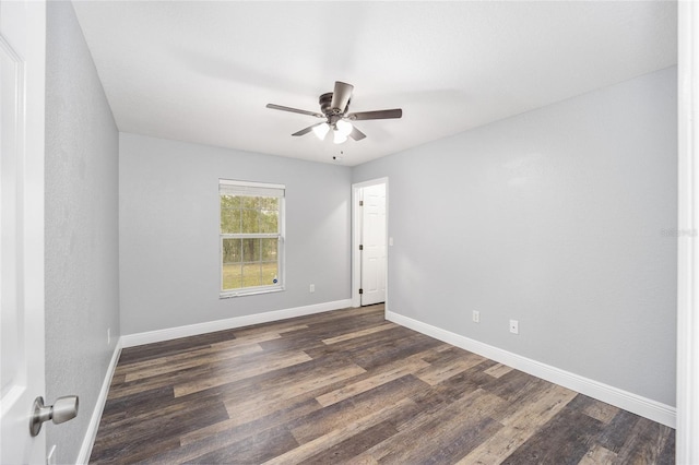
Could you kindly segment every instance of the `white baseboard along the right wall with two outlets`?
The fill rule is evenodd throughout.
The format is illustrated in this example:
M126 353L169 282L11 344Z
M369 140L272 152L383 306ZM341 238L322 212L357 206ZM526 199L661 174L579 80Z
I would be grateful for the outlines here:
M675 407L671 407L670 405L661 404L660 402L642 397L628 391L522 357L501 348L423 323L422 321L413 320L412 318L404 317L402 314L387 311L386 319L436 339L443 341L453 346L487 357L499 363L507 365L520 371L524 371L525 373L596 398L597 401L605 402L636 415L657 421L659 424L675 428L677 414Z

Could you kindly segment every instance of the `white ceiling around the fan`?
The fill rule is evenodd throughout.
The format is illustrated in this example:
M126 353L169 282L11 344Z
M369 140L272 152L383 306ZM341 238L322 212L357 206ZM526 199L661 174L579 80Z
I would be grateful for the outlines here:
M357 165L677 62L677 4L78 1L122 132ZM334 81L367 139L291 134Z

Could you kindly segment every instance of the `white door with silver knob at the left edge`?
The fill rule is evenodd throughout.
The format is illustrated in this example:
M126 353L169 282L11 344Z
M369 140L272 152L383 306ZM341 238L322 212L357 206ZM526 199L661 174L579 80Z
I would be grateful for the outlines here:
M44 395L46 4L0 1L0 463L46 463L29 434Z

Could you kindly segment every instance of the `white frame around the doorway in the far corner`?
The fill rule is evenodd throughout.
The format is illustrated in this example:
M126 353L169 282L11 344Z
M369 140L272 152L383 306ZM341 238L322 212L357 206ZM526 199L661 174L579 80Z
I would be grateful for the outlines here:
M389 311L389 178L378 178L352 184L352 307L362 306L359 286L362 285L362 253L359 241L362 239L362 214L359 211L359 193L369 186L386 186L386 303L384 311Z

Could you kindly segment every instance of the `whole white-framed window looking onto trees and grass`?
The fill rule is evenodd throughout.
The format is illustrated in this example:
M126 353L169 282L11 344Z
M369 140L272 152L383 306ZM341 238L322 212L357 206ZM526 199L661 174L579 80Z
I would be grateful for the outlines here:
M221 297L284 289L284 190L218 180Z

